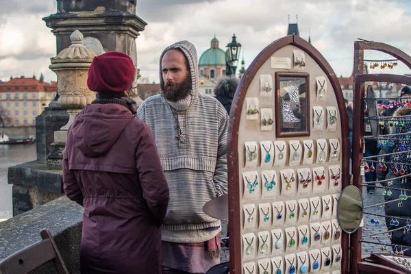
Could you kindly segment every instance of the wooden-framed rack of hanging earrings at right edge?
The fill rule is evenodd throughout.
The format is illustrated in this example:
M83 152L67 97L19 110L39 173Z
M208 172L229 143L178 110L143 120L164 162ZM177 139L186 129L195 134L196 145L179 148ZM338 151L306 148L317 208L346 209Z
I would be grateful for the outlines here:
M360 190L373 186L377 189L374 195L381 195L383 199L379 201L379 197L375 197L375 202L364 207L364 223L351 235L350 273L411 273L411 259L406 256L411 249L411 245L406 244L411 237L408 235L411 214L407 216L407 212L401 210L410 208L411 97L381 97L379 94L376 98L374 92L374 88L381 85L391 86L395 91L411 86L411 77L362 74L364 69L372 71L376 67L391 70L399 62L411 68L411 58L399 49L379 42L356 42L355 49L357 75L353 116L358 119L353 119L353 185ZM383 51L396 59L364 60L366 49ZM364 157L366 143L370 140L381 151ZM365 173L377 173L377 179L363 182ZM379 252L364 258L364 244Z

